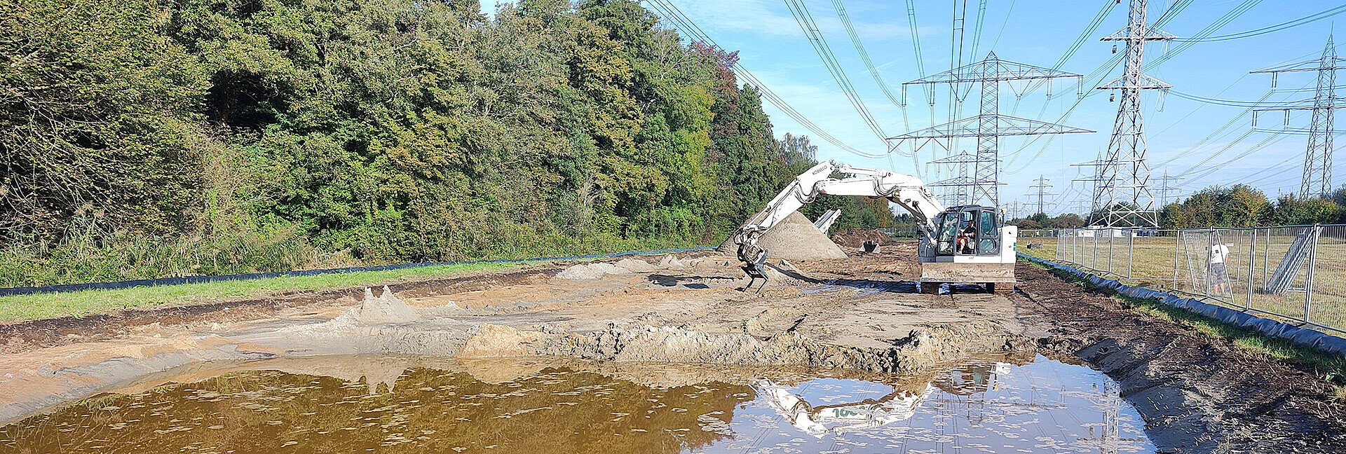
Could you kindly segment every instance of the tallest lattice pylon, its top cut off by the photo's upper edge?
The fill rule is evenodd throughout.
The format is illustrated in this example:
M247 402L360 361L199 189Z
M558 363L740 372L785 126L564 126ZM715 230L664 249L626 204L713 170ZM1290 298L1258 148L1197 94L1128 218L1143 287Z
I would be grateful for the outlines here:
M1121 77L1098 87L1117 90L1117 120L1112 126L1108 152L1097 161L1094 175L1082 181L1093 181L1092 224L1158 227L1155 195L1149 191L1149 164L1145 163L1145 124L1140 114L1141 90L1168 90L1171 86L1141 73L1145 42L1170 40L1176 36L1145 24L1145 1L1131 0L1127 27L1104 36L1102 40L1127 43L1125 66Z

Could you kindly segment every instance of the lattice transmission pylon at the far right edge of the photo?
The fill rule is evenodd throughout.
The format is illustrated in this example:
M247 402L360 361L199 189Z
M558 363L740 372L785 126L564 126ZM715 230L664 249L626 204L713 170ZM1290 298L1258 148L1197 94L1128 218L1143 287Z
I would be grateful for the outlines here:
M1292 102L1289 106L1267 107L1253 110L1253 128L1257 126L1257 114L1268 110L1284 110L1285 125L1289 125L1291 110L1312 110L1312 120L1308 124L1308 148L1304 149L1304 176L1299 183L1300 197L1326 197L1333 192L1333 111L1343 107L1337 103L1337 70L1346 59L1337 56L1333 46L1333 36L1327 35L1327 47L1323 55L1314 60L1289 63L1265 70L1252 71L1252 74L1271 74L1271 87L1276 87L1276 75L1280 73L1318 71L1318 87L1311 99ZM1257 129L1254 129L1257 130ZM1303 134L1303 129L1264 130L1272 133Z

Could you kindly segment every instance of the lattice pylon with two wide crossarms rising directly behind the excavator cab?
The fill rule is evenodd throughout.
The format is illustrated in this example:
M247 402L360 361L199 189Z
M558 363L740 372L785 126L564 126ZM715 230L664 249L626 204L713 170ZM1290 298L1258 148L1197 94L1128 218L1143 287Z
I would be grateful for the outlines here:
M958 90L962 83L981 83L981 113L975 117L954 120L938 126L930 126L909 132L906 134L888 137L891 144L900 144L905 140L917 141L919 150L926 144L934 141L945 149L952 148L952 141L958 137L976 137L976 154L960 152L945 158L930 161L930 164L948 164L958 168L958 175L950 179L931 183L931 187L954 188L953 197L948 204L988 204L1000 206L1000 136L1036 136L1036 134L1069 134L1092 133L1093 130L1050 124L1036 120L1019 118L1000 114L1000 82L1046 79L1047 97L1051 97L1050 79L1077 78L1079 74L1058 71L1040 66L1001 60L996 52L989 52L980 62L968 63L957 69L931 74L902 85L902 98L906 102L907 86L926 85L934 87L937 83L949 83L953 90ZM1077 90L1078 95L1078 90ZM895 146L895 145L894 145ZM968 175L968 168L972 175Z

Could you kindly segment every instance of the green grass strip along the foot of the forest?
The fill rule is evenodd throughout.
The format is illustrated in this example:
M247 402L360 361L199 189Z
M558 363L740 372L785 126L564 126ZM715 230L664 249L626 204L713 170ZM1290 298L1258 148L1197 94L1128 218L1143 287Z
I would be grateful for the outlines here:
M498 270L522 263L468 263L386 271L357 271L269 279L166 285L121 290L85 290L0 297L0 321L87 316L121 309L155 309L229 298L261 297L287 290L369 286L402 278L429 278Z

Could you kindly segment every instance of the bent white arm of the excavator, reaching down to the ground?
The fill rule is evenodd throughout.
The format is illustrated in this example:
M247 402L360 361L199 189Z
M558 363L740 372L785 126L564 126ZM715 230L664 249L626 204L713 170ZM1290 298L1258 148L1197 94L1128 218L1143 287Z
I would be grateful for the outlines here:
M833 179L832 173L849 175L843 179ZM781 223L806 203L812 203L820 193L837 196L865 196L884 197L888 201L911 212L921 226L922 242L934 243L934 219L945 211L944 204L934 199L930 189L921 179L910 175L900 175L882 169L857 168L833 161L818 163L808 172L804 172L794 181L771 199L765 210L748 219L743 227L734 234L734 242L739 246L739 261L743 261L743 270L755 278L766 278L762 265L766 263L767 251L756 246L758 238L767 230ZM750 283L751 286L751 283Z

